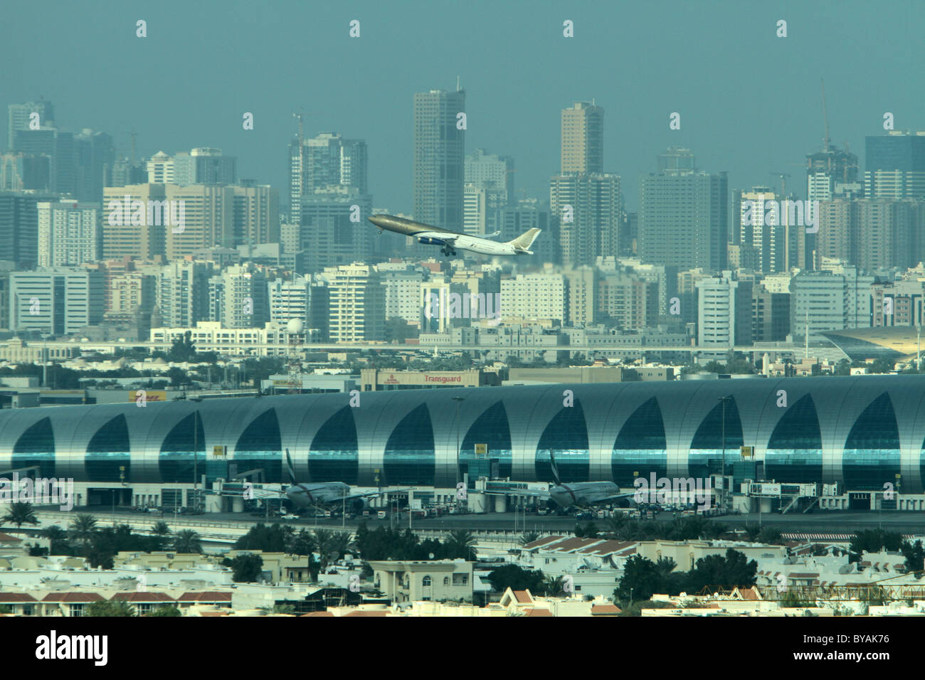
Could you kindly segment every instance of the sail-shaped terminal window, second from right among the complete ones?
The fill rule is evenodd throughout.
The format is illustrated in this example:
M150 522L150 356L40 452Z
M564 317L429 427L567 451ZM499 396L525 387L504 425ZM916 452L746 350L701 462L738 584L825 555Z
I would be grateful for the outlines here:
M822 433L816 403L801 397L778 421L764 454L769 479L813 484L822 478Z

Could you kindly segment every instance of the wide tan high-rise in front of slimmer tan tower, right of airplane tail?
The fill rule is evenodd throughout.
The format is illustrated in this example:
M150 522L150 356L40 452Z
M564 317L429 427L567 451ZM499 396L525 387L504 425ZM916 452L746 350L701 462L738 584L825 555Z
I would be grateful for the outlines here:
M620 253L623 193L619 175L557 175L549 180L549 209L559 225L563 265L593 265L598 257Z

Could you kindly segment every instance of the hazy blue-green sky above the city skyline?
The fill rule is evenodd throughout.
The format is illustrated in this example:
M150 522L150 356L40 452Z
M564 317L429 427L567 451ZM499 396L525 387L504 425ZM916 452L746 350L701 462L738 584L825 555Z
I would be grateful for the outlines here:
M137 19L148 37L135 36ZM42 95L66 130L105 130L126 154L132 129L140 155L219 147L283 201L303 106L306 136L368 142L375 206L407 212L413 93L454 89L459 76L467 151L512 155L518 195L549 198L561 108L591 98L606 109L604 167L623 176L630 209L639 173L669 145L728 170L732 188L787 171L805 192L791 164L820 148L820 77L832 141L862 164L884 112L896 130L925 129L923 28L922 0L17 3L0 22L0 134L7 104ZM254 130L242 130L246 111ZM673 111L681 130L669 130Z

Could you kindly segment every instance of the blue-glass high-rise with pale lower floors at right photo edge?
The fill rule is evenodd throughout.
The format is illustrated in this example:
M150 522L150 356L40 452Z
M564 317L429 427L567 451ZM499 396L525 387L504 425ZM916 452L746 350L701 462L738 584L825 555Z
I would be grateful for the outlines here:
M925 131L892 131L867 138L864 195L925 198Z

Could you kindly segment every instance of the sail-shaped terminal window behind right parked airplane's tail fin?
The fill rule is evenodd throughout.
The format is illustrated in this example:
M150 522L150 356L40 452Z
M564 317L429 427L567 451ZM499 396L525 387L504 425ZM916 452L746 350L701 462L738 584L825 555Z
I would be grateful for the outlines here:
M553 416L536 444L536 479L539 481L552 480L550 454L556 457L563 484L587 481L591 454L587 446L585 412L577 399L573 406L565 406Z

